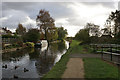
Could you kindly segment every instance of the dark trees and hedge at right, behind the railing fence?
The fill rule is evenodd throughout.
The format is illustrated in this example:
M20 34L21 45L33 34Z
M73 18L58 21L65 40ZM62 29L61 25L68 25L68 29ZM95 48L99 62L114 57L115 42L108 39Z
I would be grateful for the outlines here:
M74 39L83 43L120 44L120 10L109 14L103 29L94 23L87 23L84 29L79 30Z

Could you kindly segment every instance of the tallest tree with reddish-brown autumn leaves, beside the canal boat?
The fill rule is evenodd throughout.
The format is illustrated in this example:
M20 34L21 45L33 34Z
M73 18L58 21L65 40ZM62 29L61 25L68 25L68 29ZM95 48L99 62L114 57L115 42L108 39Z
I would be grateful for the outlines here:
M55 28L54 19L50 16L49 11L40 10L36 18L36 23L40 27L40 30L44 31L45 39L47 39L47 31Z

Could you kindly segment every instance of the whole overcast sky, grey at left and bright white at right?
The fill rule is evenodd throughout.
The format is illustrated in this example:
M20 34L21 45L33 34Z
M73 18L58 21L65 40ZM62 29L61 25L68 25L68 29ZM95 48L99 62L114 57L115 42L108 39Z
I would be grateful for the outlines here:
M36 26L39 10L45 9L55 19L56 27L63 26L68 36L74 36L87 22L104 26L111 11L118 8L117 2L2 2L3 27L15 31L18 23L24 27Z

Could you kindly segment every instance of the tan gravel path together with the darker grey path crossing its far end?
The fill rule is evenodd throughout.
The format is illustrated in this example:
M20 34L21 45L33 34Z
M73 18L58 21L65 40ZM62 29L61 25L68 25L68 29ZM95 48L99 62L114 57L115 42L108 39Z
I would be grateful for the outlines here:
M62 75L62 79L84 80L84 62L82 58L101 58L101 54L71 54L69 57L67 69ZM109 57L109 55L104 55L104 58L107 60L109 60Z

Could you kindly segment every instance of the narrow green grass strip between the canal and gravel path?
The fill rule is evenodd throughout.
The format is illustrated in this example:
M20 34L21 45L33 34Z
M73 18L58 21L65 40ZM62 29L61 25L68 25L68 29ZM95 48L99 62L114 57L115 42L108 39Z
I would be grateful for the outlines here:
M60 78L66 69L69 60L69 51L62 56L59 62L43 78Z

